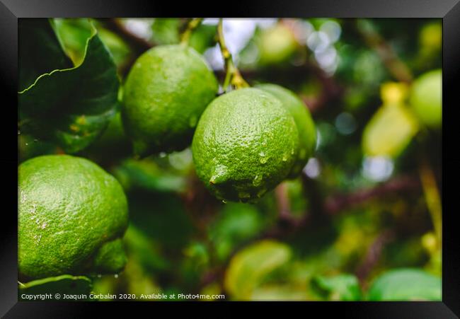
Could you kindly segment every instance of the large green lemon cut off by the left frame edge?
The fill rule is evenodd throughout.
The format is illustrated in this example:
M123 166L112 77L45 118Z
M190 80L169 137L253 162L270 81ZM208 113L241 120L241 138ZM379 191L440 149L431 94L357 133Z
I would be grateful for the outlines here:
M119 272L127 199L95 163L39 156L18 168L18 267L25 279Z

